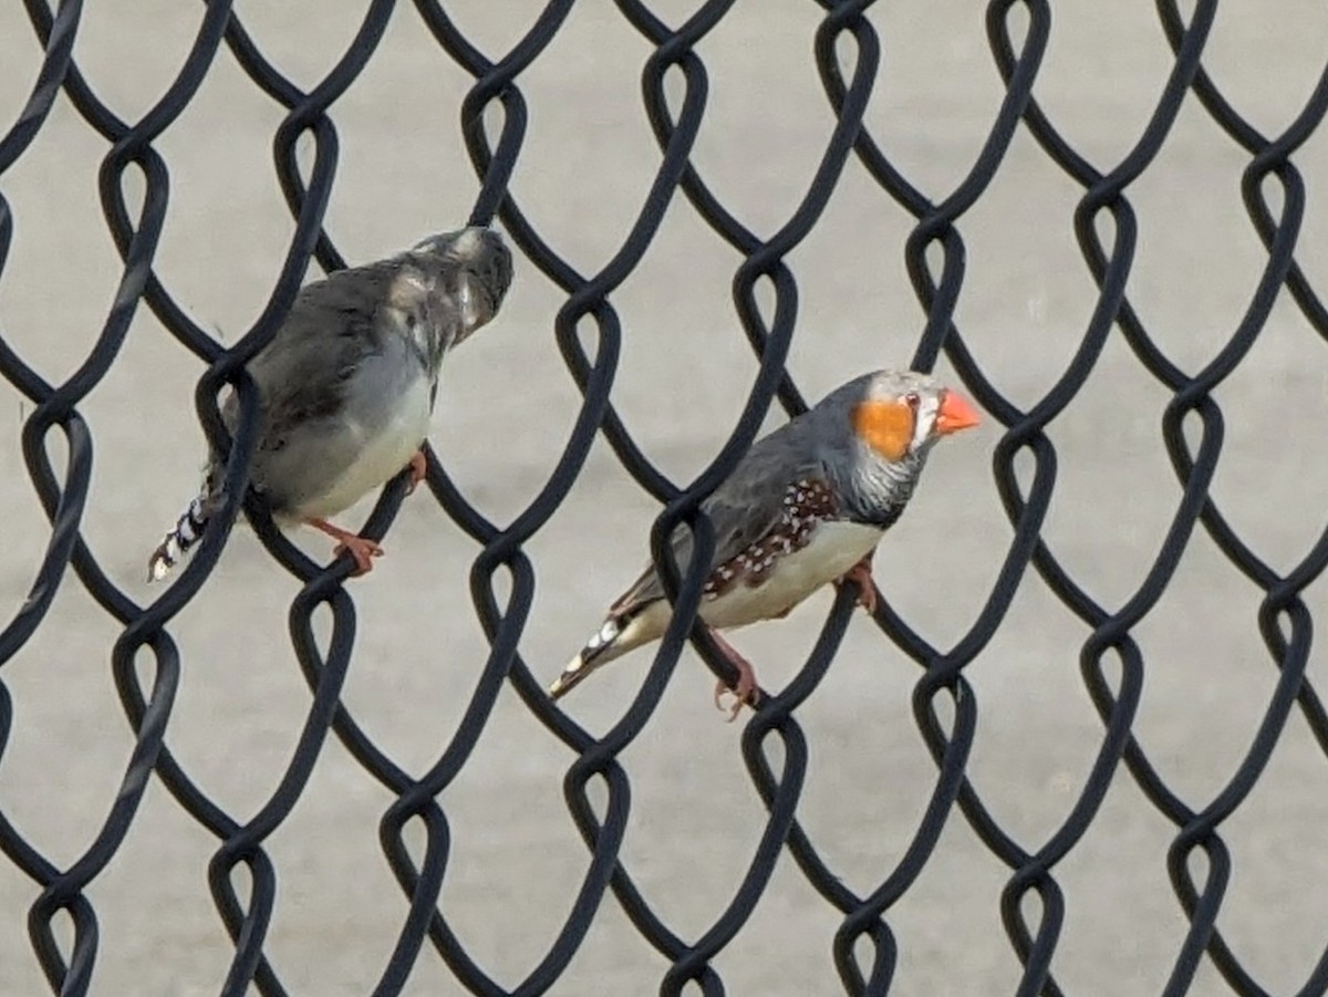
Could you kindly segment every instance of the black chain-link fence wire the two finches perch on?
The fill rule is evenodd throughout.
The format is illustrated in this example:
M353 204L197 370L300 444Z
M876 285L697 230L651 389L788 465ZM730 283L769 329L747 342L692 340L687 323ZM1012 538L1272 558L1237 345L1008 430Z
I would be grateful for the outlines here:
M218 806L166 746L173 704L181 684L182 658L171 637L171 621L187 604L207 599L208 577L218 563L228 523L240 511L232 487L218 526L167 588L151 589L153 601L139 604L118 587L85 544L81 530L89 507L93 434L80 413L84 400L108 376L125 343L130 321L141 305L198 357L206 370L197 388L197 410L207 434L224 441L216 400L227 386L239 394L242 418L231 449L228 482L246 481L246 461L254 447L254 388L244 364L274 335L290 308L312 258L323 271L347 266L324 230L337 163L337 131L332 113L337 101L374 58L389 19L412 12L393 0L367 5L359 32L345 45L340 60L316 86L296 86L274 65L246 32L244 20L227 0L211 0L198 8L198 33L187 60L170 86L137 121L122 121L80 72L74 58L84 5L61 0L50 9L44 0L24 0L33 31L33 44L42 49L40 73L19 117L4 122L0 139L0 191L5 171L41 134L52 109L61 98L97 134L110 143L100 169L100 195L106 226L122 260L114 303L94 348L64 382L44 380L0 329L0 373L35 406L23 422L23 457L32 487L50 522L50 536L27 601L0 631L0 665L29 645L39 629L56 627L49 613L57 589L77 583L122 628L112 654L116 688L133 731L133 751L114 801L93 840L73 862L57 864L16 828L0 798L0 851L32 880L40 895L27 912L31 945L53 992L96 992L98 965L98 916L96 884L134 828L145 791L153 781L218 844L207 868L207 882L220 920L234 943L234 957L222 993L239 994L256 988L263 994L291 992L280 960L271 957L268 931L278 901L278 867L267 847L301 799L315 763L328 743L328 734L353 755L390 794L394 802L382 814L380 844L401 889L404 919L390 956L378 972L373 993L401 993L421 960L436 953L446 964L457 986L478 994L542 993L555 988L587 939L596 917L616 904L635 929L669 962L663 981L641 981L640 992L683 993L699 988L706 994L725 992L716 966L721 952L740 936L766 891L777 860L791 856L801 875L839 913L838 929L825 945L833 949L838 982L825 981L823 993L835 986L851 994L879 994L891 989L899 945L891 928L896 905L919 880L936 854L943 827L967 823L1005 867L1008 879L1000 895L1000 919L1009 947L1019 960L1020 994L1060 994L1057 945L1066 923L1066 899L1058 883L1058 864L1088 834L1113 782L1130 781L1147 803L1173 828L1167 871L1174 903L1183 912L1183 931L1174 964L1165 982L1166 994L1191 990L1201 966L1210 966L1234 993L1268 993L1270 984L1242 957L1238 944L1223 933L1219 915L1232 880L1232 856L1223 838L1226 822L1255 789L1279 743L1288 718L1299 710L1319 747L1328 753L1328 716L1305 678L1312 619L1301 597L1304 589L1328 566L1328 532L1291 571L1275 571L1242 539L1231 519L1210 495L1223 443L1223 412L1214 393L1242 364L1260 336L1275 300L1289 292L1296 308L1320 337L1328 339L1328 312L1305 271L1297 264L1296 247L1307 210L1305 182L1292 162L1328 110L1328 68L1319 77L1304 106L1291 123L1267 137L1228 102L1204 72L1206 42L1216 15L1216 0L1195 0L1183 12L1174 0L1158 0L1159 37L1171 49L1170 74L1138 139L1110 165L1092 162L1077 151L1054 118L1033 96L1052 32L1048 0L992 0L985 5L985 32L991 58L1004 84L999 109L991 119L985 142L971 167L943 198L932 199L910 182L887 158L882 145L863 123L865 112L880 81L883 38L869 17L870 0L833 3L821 0L823 16L809 45L823 86L825 109L833 130L821 154L819 167L801 203L786 223L769 238L745 227L708 186L692 155L706 113L708 70L699 46L730 13L733 0L700 3L685 21L668 25L639 0L618 0L623 19L653 46L640 73L641 101L659 145L657 169L640 214L607 266L598 273L578 272L542 236L523 211L519 185L509 186L522 162L527 135L527 102L523 74L539 60L567 58L548 50L568 17L571 0L551 0L510 52L485 53L467 38L448 5L416 0L413 13L422 19L437 45L474 77L459 109L440 109L459 115L465 149L478 178L470 223L497 219L526 267L538 268L566 295L558 311L555 332L567 372L582 396L575 427L566 451L533 502L507 526L489 522L449 478L446 467L429 454L428 490L470 538L482 546L470 571L474 612L490 644L465 710L446 749L420 778L408 774L374 743L341 704L343 684L353 660L356 583L343 587L351 564L347 559L321 567L304 556L260 514L251 516L267 550L303 584L290 609L290 639L312 693L297 747L276 790L258 812L240 822ZM173 296L154 254L167 215L167 163L154 147L166 129L190 106L208 74L234 60L254 86L286 109L274 137L276 174L295 220L284 266L271 299L258 321L228 348L195 324ZM995 78L995 77L993 77ZM5 80L5 86L19 81ZM1182 104L1197 98L1212 122L1248 155L1240 192L1254 231L1266 251L1248 308L1234 332L1214 348L1211 360L1197 373L1183 372L1150 335L1145 320L1126 293L1135 260L1138 226L1130 203L1130 186L1159 157L1173 133ZM497 109L501 109L501 113ZM501 121L501 126L495 122ZM1082 260L1066 259L1066 268L1086 267L1097 299L1090 320L1070 361L1050 390L1036 404L1021 408L996 389L993 381L965 345L955 321L956 301L965 279L965 243L959 222L992 185L1016 134L1025 131L1045 159L1078 186L1073 230ZM299 150L312 151L303 155ZM689 632L680 620L667 635L659 656L644 678L640 693L620 720L600 738L592 737L568 714L551 704L544 685L547 666L529 668L518 643L530 617L535 574L523 544L546 527L571 490L596 434L603 434L623 467L645 493L667 503L651 534L659 558L661 538L684 523L706 542L706 526L697 516L700 500L734 466L757 435L768 409L777 400L790 414L806 408L786 361L795 333L798 285L786 258L813 231L827 202L850 169L863 170L888 198L907 211L915 226L903 247L907 273L926 313L911 361L930 370L944 354L971 397L1001 427L995 447L992 474L1012 527L995 584L976 619L950 649L932 647L918 629L883 600L875 624L895 647L920 665L914 686L912 714L935 763L930 799L907 848L874 888L850 889L814 836L799 820L799 801L809 763L809 742L797 713L826 674L853 613L853 592L841 591L806 664L778 694L766 696L746 714L741 753L752 785L765 805L765 823L732 901L714 917L708 931L681 937L651 904L622 847L628 827L629 783L619 755L643 729L675 672ZM135 208L126 202L126 175L141 178L142 196ZM742 262L733 275L733 303L742 332L758 357L741 417L728 442L705 471L685 490L677 489L653 465L627 431L611 402L615 369L623 339L619 313L610 299L652 244L665 210L685 203L733 250ZM461 219L456 219L458 223ZM15 238L9 203L0 192L0 277ZM357 260L359 262L359 260ZM523 275L518 272L518 283ZM773 295L773 308L761 307L762 293ZM768 317L772 316L772 317ZM594 328L594 336L586 333ZM1138 362L1170 393L1162 422L1162 441L1179 497L1170 514L1165 540L1151 568L1131 597L1109 609L1096 601L1057 559L1044 536L1056 486L1057 450L1048 426L1076 398L1094 370L1105 344L1123 339ZM584 343L594 340L588 353ZM903 357L900 357L903 360ZM1228 413L1230 414L1230 413ZM68 450L62 467L50 455L52 438L62 435ZM1317 454L1307 455L1320 459ZM1016 463L1031 474L1016 473ZM5 469L7 482L19 481L17 469ZM8 487L8 485L7 485ZM405 494L404 478L389 485L369 516L367 536L381 539L392 527ZM417 495L412 502L428 500ZM163 507L169 516L174 507ZM166 520L163 519L163 526ZM1262 705L1262 721L1230 781L1202 805L1185 802L1163 781L1155 758L1135 739L1145 676L1145 657L1134 628L1158 604L1197 535L1197 527L1262 592L1258 627L1268 658L1278 670L1276 685ZM145 540L149 538L145 538ZM150 544L149 544L150 546ZM624 562L624 572L633 567ZM969 753L979 721L979 697L965 666L972 664L1007 619L1021 581L1036 572L1041 581L1090 631L1082 643L1080 665L1084 688L1101 721L1101 742L1088 777L1077 786L1077 799L1064 820L1036 847L1020 844L988 803L980 782L971 778ZM74 577L69 577L73 574ZM625 580L625 574L624 574ZM700 570L673 575L673 596L692 605L699 599ZM503 593L505 595L499 595ZM331 639L315 637L315 613L331 613ZM592 620L586 621L594 624ZM697 651L718 676L729 670L710 658L705 645ZM16 722L16 704L0 670L0 770L4 746ZM449 859L449 816L440 797L467 763L499 693L511 688L533 717L567 745L576 761L567 770L563 791L567 810L588 851L579 891L570 899L566 921L547 955L511 990L467 951L440 907L440 892L453 871ZM882 790L888 793L888 789ZM408 846L408 830L424 828L424 850ZM750 830L750 828L748 828ZM243 885L242 885L243 884ZM5 917L16 911L5 911ZM15 920L17 920L15 917ZM66 929L68 928L68 929ZM955 956L960 957L959 955ZM1104 968L1104 972L1110 972ZM1218 976L1211 977L1214 981ZM1104 993L1117 993L1106 988ZM1315 962L1297 993L1328 992L1328 947Z

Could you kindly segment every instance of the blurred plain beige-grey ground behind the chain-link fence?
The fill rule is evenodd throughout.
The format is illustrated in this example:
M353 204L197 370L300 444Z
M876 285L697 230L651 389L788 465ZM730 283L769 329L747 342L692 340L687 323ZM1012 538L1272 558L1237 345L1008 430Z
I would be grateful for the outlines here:
M305 90L364 17L355 4L316 0L239 0L234 9L264 56ZM542 5L463 0L446 9L497 61ZM651 9L677 25L695 4L656 1ZM88 4L77 65L102 101L137 121L179 72L203 11L159 0ZM709 93L692 161L761 238L797 210L834 127L813 54L822 16L805 0L734 4L697 46ZM895 167L940 202L973 167L1004 96L984 9L904 0L878 4L870 16L882 61L866 123ZM1012 20L1027 17L1016 11ZM619 250L659 169L640 96L652 52L616 7L582 3L518 78L530 119L510 190L582 273L598 272ZM851 45L841 45L841 58L847 76ZM1276 135L1300 113L1325 60L1321 3L1242 0L1218 12L1203 66L1236 110ZM40 61L21 5L0 8L0 127L16 121ZM1080 154L1108 173L1139 139L1173 61L1151 5L1069 0L1054 4L1035 94ZM325 227L349 262L389 255L469 216L479 185L462 146L459 106L473 82L416 9L398 5L367 69L329 112L340 157ZM679 102L680 82L671 81ZM293 231L272 167L282 119L283 109L222 49L187 110L154 142L170 170L154 272L223 343L262 312ZM495 113L491 135L499 123ZM0 175L15 220L0 272L0 335L53 382L86 357L121 276L97 194L106 151L61 96L31 149ZM1139 227L1130 300L1155 344L1191 374L1231 337L1267 260L1240 198L1250 159L1190 96L1157 159L1127 189ZM1297 262L1321 288L1328 130L1295 162L1308 191ZM1279 204L1276 185L1268 187ZM142 179L133 170L125 192L137 210ZM1097 301L1073 232L1082 192L1021 127L957 223L967 272L956 327L996 389L1025 410L1064 373ZM926 323L904 268L914 226L850 159L811 235L788 258L798 287L789 369L809 400L863 370L910 361ZM728 439L756 373L732 299L741 262L677 195L640 266L610 299L623 327L612 400L637 445L679 486ZM518 256L502 315L445 366L433 446L465 497L499 524L543 487L580 405L552 335L564 301ZM1324 528L1325 346L1283 292L1248 357L1215 393L1224 442L1212 498L1278 572L1297 564ZM203 369L139 307L117 362L80 406L96 446L82 535L139 601L159 595L143 581L146 558L198 485L203 435L193 392ZM938 374L954 382L944 361ZM1048 429L1057 478L1042 536L1110 611L1142 584L1181 500L1161 435L1170 397L1116 331ZM20 453L31 410L0 381L4 621L27 597L49 538ZM781 420L776 410L768 423ZM1013 538L992 475L1001 431L988 418L938 447L908 514L876 555L891 605L939 648L973 625ZM62 446L50 434L57 470ZM1016 467L1027 487L1032 462ZM640 570L659 511L596 442L567 500L525 546L537 591L521 653L538 677L558 673ZM313 531L295 539L312 556L329 555ZM424 493L406 500L384 547L377 570L348 585L357 635L343 700L381 750L420 775L453 737L489 652L469 593L478 547ZM236 530L170 627L183 673L167 743L238 820L274 793L308 712L287 637L296 591L254 535ZM827 589L788 620L734 639L766 688L781 688L803 662L830 597ZM1303 597L1323 621L1324 583ZM1268 708L1278 669L1258 631L1262 599L1199 528L1166 595L1131 631L1146 669L1134 735L1193 810L1222 791ZM0 812L60 867L89 847L133 746L110 672L118 631L69 574L36 636L0 670L15 712L0 743ZM1029 852L1066 819L1102 746L1080 674L1088 635L1028 571L996 637L964 672L979 710L969 778ZM639 652L606 669L566 709L590 731L608 730L649 660ZM1323 669L1323 653L1312 651L1311 681ZM1110 657L1106 670L1120 672ZM142 674L150 680L146 656ZM910 698L920 674L855 613L827 677L797 713L810 745L798 818L859 895L900 862L935 787ZM622 860L688 940L730 901L766 819L738 750L741 728L714 712L712 685L695 652L684 651L652 722L620 758L632 785ZM562 795L574 758L507 689L440 798L453 835L441 905L471 957L506 988L544 956L586 872L588 852ZM299 806L267 840L279 897L264 951L290 992L360 994L382 972L406 916L378 848L378 819L392 802L329 738ZM1271 993L1299 988L1328 937L1325 818L1328 763L1293 714L1256 789L1222 824L1234 871L1219 927ZM1053 969L1068 993L1163 989L1187 928L1167 880L1175 834L1122 767L1090 830L1054 870L1066 920ZM101 936L93 993L218 992L234 949L207 891L216 847L159 785L149 787L124 847L86 891ZM1202 882L1202 862L1194 875ZM886 915L899 944L892 992L1013 993L1020 964L999 907L1009 876L952 812L923 875ZM27 932L39 892L0 860L0 993L46 989ZM1036 901L1025 908L1036 924ZM831 939L841 920L785 855L713 965L736 994L839 992ZM57 920L66 940L65 928ZM551 993L652 993L667 968L608 897ZM1224 988L1204 960L1191 992ZM405 992L461 986L426 944Z

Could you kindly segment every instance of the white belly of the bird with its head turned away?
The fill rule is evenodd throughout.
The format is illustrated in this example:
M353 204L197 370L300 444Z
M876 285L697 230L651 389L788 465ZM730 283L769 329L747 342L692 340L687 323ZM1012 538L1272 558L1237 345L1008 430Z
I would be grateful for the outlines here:
M345 431L356 441L359 457L319 498L300 510L304 516L327 519L359 502L401 471L429 435L429 382L414 378L401 402L381 425L367 427L349 422Z

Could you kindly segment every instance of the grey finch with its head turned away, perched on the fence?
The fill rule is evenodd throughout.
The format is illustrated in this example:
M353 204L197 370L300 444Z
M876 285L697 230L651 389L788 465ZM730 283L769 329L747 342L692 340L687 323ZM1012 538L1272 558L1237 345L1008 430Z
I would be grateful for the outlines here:
M250 485L280 526L307 523L349 551L357 575L382 548L333 526L409 466L424 477L438 372L449 349L497 315L511 252L490 228L434 235L386 260L341 269L300 289L272 341L247 365L259 392ZM222 421L234 433L239 406ZM224 463L208 458L203 489L147 563L158 581L194 546L220 502Z

